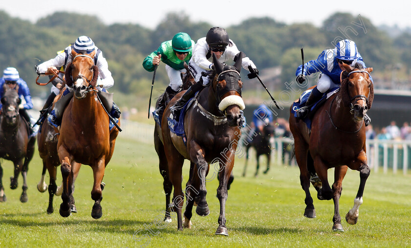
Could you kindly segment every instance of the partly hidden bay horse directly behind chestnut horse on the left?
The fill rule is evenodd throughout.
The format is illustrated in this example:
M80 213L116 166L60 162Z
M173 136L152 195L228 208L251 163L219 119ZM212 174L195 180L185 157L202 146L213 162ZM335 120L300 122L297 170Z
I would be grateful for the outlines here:
M56 96L54 103L56 102L57 99L59 99L65 88L63 88L58 96ZM50 109L51 110L51 109ZM53 208L53 198L54 195L60 196L62 194L63 187L60 185L57 187L56 184L56 179L57 179L57 166L60 165L60 159L57 153L57 142L58 138L56 135L56 131L54 130L53 127L47 124L47 115L48 113L45 114L45 122L41 124L40 130L37 134L37 145L39 148L39 155L40 158L43 160L43 171L42 171L42 178L40 182L37 184L37 189L40 192L46 192L48 188L48 207L47 207L47 214L51 214L54 212ZM72 163L75 163L74 161ZM81 164L76 163L75 166L73 166L73 181L77 178L78 172L80 170ZM48 175L50 177L49 185L47 187L47 184L45 182L45 177L46 177L46 170L48 171ZM73 182L73 189L74 191L74 182ZM70 208L71 212L75 213L77 212L77 209L74 204L74 198L72 195L70 196Z

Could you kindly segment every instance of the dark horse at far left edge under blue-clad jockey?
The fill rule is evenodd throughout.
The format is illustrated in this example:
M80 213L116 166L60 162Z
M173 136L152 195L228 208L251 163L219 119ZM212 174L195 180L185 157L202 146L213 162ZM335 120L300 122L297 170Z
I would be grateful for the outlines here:
M30 137L28 123L19 114L19 105L22 100L14 89L4 87L1 97L0 115L0 158L10 160L14 164L14 177L10 177L10 188L18 186L19 174L23 176L23 192L20 196L22 203L27 202L27 170L28 164L34 155L36 137ZM3 169L0 165L0 202L6 201L3 187Z

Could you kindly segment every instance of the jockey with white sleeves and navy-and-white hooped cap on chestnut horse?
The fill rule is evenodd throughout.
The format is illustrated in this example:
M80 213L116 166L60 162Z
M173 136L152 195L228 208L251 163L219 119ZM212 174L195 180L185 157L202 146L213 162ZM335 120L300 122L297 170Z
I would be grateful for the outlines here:
M98 67L98 79L97 79L97 90L106 91L106 88L110 88L114 85L114 79L112 77L112 73L109 70L108 63L106 59L103 57L103 53L97 46L94 45L94 42L91 40L90 37L87 36L80 36L77 38L73 45L69 45L66 47L64 52L57 54L54 59L50 59L39 66L36 67L37 73L51 73L54 71L58 73L58 69L60 67L66 67L69 63L72 62L73 58L71 56L71 50L74 50L76 53L82 54L90 54L95 51L94 55L94 65ZM51 89L52 95L58 94L58 88L55 86ZM66 95L69 92L68 89L64 92ZM50 98L50 97L49 97ZM47 106L45 106L47 107ZM44 108L45 108L44 107ZM120 110L118 109L117 105L113 102L113 108L110 111L110 115L113 118L120 117ZM48 122L54 126L60 126L61 120L57 119L54 112L51 112L48 118Z

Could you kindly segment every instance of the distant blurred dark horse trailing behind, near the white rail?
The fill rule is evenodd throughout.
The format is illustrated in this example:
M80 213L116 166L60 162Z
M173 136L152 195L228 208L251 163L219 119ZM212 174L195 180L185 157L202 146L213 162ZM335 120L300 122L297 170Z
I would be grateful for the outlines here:
M260 168L260 161L259 158L261 155L265 155L267 157L267 169L263 172L267 174L270 170L270 160L271 160L271 151L273 150L272 145L270 143L270 138L274 135L274 126L271 123L268 123L263 127L261 132L255 132L254 135L250 135L252 140L250 142L247 141L246 143L246 163L244 164L244 171L243 177L246 176L247 164L249 159L249 150L250 148L255 149L255 159L257 161L257 168L255 171L254 176L258 176L258 170Z

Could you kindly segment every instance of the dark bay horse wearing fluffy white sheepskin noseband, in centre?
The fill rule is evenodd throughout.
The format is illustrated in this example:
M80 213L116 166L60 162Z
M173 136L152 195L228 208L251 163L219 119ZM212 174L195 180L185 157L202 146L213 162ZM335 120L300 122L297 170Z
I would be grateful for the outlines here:
M220 216L215 234L228 235L225 213L228 197L227 186L234 166L238 140L241 136L240 110L245 108L241 97L243 83L240 78L243 53L236 57L239 59L236 60L234 66L224 66L213 54L216 74L211 84L197 94L193 105L188 108L183 118L186 144L181 136L171 133L166 118L170 115L169 107L181 98L183 92L178 93L164 111L161 133L170 180L174 187L173 203L177 210L178 230L183 230L183 227L191 228L193 196L200 195L196 213L200 216L209 214L206 202L206 175L209 164L218 162L219 168L216 168L212 176L212 179L216 177L216 174L219 177L217 197L220 201ZM194 166L190 168L190 180L185 190L187 204L183 224L182 169L184 158L190 160Z

